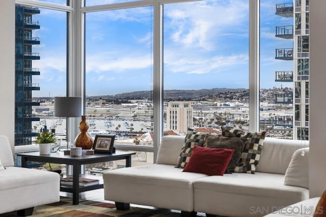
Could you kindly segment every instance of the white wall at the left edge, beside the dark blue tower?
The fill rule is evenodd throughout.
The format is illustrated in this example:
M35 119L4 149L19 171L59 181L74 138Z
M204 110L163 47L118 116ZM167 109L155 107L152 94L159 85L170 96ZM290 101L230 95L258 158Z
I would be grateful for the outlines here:
M15 1L0 2L0 134L15 137Z

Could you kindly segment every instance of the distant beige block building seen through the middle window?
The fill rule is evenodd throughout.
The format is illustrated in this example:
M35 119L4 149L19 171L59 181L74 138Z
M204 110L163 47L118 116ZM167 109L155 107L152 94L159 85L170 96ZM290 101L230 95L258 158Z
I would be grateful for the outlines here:
M193 127L193 108L191 102L171 101L167 107L167 130L180 133Z

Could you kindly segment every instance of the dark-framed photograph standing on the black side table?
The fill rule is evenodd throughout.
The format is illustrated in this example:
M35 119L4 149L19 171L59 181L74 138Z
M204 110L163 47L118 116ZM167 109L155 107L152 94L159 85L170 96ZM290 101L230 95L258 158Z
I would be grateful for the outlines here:
M114 134L97 134L93 144L94 152L97 153L114 153Z

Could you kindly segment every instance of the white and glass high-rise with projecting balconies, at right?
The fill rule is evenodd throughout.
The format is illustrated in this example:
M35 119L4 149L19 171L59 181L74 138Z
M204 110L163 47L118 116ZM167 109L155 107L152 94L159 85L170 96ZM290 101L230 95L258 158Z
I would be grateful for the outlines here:
M276 72L275 81L293 82L294 90L276 96L276 103L293 103L293 116L276 119L293 127L293 139L309 140L309 0L278 4L276 14L292 18L289 22L294 23L276 27L276 37L293 39L293 48L276 49L276 59L293 60L293 71ZM285 118L291 120L286 122Z

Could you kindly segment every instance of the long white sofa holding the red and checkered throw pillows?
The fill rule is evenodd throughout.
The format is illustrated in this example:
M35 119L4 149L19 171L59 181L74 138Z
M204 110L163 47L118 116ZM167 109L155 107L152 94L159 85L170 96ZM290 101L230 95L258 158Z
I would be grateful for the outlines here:
M223 176L176 168L183 144L182 136L164 136L156 164L105 172L104 199L115 201L117 209L127 209L133 203L178 209L182 216L195 216L196 212L207 216L263 216L268 210L309 198L309 189L284 185L293 153L307 147L307 141L265 138L255 174ZM309 149L305 158L308 153ZM308 180L308 172L306 175L302 182Z

